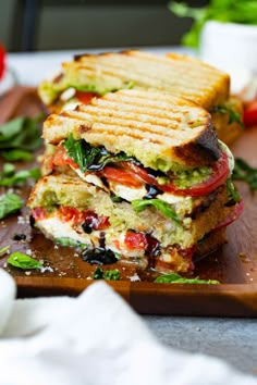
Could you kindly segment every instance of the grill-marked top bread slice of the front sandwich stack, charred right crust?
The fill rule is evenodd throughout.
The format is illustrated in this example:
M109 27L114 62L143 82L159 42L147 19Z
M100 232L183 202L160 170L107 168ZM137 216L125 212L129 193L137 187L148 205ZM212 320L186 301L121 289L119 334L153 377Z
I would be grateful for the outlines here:
M169 171L174 163L201 166L217 161L220 150L211 116L198 104L170 94L120 90L44 124L46 142L73 134L112 153L125 152L145 166Z

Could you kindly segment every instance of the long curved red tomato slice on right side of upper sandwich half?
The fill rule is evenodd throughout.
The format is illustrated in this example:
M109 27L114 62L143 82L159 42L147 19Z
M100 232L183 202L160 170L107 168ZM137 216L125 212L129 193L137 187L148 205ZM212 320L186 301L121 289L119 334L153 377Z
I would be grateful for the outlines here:
M162 191L191 197L200 197L210 194L225 182L230 173L228 156L225 152L222 152L218 162L213 164L212 172L207 181L184 189L175 186L172 182L167 185L159 185L154 176L149 175L146 170L133 162L123 162L122 165L126 172L127 170L134 172L134 177L139 177L145 183L154 185Z

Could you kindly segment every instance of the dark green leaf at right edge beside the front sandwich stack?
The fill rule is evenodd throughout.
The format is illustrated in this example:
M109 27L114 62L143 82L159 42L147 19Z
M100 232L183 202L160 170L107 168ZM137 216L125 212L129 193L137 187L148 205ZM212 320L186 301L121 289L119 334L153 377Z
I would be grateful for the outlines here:
M252 191L257 190L257 169L252 167L245 160L241 158L235 159L232 179L244 181L248 184Z

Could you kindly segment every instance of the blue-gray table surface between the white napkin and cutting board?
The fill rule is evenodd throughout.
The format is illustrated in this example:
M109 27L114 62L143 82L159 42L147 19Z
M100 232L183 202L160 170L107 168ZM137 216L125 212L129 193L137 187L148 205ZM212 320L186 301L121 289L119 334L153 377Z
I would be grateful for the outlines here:
M172 348L218 357L257 375L257 320L144 315L150 331Z

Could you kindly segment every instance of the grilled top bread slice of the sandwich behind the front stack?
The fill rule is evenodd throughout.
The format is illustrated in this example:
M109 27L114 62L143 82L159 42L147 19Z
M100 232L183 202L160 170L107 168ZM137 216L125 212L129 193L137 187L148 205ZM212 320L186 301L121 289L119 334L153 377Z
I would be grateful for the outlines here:
M69 87L99 95L122 88L159 90L211 109L228 99L228 74L185 55L166 57L140 51L83 54L62 64L62 75L44 82L39 95L50 105Z

